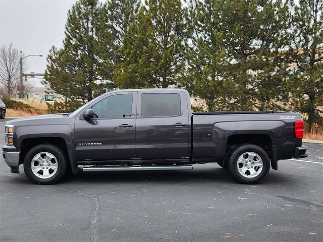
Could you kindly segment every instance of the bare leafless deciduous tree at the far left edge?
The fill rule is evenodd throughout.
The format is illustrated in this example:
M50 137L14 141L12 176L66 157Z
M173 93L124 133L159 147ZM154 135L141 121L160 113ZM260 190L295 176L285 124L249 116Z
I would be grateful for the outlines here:
M10 43L8 46L0 47L0 86L4 87L4 93L8 97L17 94L19 86L19 51ZM25 67L23 60L23 69Z

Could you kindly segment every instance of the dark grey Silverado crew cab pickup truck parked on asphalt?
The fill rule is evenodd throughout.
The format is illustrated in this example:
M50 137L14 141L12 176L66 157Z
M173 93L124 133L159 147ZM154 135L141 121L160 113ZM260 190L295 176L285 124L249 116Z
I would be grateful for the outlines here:
M35 184L68 171L183 170L217 162L256 184L278 160L307 157L300 113L191 112L184 89L107 92L72 113L11 120L3 156Z

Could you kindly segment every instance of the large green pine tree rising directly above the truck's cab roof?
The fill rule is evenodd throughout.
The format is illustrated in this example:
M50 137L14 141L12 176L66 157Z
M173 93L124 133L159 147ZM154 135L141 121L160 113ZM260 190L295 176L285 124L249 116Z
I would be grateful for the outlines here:
M180 0L146 1L125 37L125 59L114 77L119 87L178 84L185 66L185 16Z

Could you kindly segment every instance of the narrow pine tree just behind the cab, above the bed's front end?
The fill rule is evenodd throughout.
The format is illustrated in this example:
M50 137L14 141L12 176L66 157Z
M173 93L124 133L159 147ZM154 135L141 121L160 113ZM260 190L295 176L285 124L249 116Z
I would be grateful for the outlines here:
M222 36L217 9L219 6L213 0L194 1L190 5L187 22L192 43L187 47L188 68L182 83L191 95L204 99L209 110L220 108L216 103L222 102L224 89L220 73L226 50L218 44Z

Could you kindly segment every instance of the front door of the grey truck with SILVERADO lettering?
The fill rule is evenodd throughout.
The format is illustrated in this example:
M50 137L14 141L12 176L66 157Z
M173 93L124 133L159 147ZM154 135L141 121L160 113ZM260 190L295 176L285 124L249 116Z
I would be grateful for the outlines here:
M135 100L136 92L111 94L92 105L93 119L76 118L78 161L135 158Z

